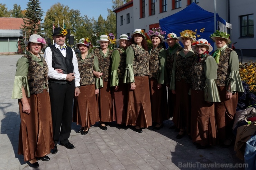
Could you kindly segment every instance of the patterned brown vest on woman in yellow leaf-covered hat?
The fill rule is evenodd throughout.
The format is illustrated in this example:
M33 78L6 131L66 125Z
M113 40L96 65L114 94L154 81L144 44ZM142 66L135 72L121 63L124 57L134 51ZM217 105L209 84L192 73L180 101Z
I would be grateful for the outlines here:
M180 82L181 78L183 77L186 83L191 83L191 76L189 74L189 70L195 61L196 55L194 53L194 55L185 58L179 53L180 51L176 52L176 81Z

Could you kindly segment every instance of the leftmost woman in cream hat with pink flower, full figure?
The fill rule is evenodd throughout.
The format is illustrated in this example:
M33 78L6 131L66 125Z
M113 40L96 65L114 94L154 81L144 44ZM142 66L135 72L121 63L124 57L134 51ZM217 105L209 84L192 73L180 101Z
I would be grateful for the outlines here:
M39 167L37 158L48 161L47 154L54 148L51 103L48 88L48 66L39 54L46 47L40 35L28 41L27 54L17 61L12 99L19 99L20 134L18 154L32 168Z

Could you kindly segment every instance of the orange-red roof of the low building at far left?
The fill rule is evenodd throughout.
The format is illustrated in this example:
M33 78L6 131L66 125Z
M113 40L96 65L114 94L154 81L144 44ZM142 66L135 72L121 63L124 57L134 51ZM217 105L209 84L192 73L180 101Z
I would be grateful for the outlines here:
M23 18L0 17L0 29L20 29Z

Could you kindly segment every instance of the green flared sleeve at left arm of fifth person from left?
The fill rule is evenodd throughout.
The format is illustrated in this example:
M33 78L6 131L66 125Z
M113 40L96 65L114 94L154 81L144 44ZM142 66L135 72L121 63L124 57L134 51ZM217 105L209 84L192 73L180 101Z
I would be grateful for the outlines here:
M114 50L111 56L112 66L111 66L111 80L110 87L119 85L119 77L118 77L118 66L120 63L120 54L118 50Z

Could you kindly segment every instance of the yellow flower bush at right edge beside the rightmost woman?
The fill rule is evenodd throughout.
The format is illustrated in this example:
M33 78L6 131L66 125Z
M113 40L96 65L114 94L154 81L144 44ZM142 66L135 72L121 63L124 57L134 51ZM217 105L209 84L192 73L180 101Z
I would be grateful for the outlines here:
M253 94L256 94L256 63L253 63L252 61L245 64L239 63L239 67L241 81L244 81L246 84L248 84L250 91Z

